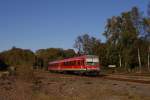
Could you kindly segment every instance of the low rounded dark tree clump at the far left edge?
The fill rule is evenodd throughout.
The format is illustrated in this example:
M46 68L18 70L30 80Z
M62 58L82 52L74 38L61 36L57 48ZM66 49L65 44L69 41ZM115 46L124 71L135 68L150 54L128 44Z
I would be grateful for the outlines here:
M0 54L4 61L11 66L27 64L32 66L35 63L35 55L31 50L25 50L13 47L8 51L3 51Z

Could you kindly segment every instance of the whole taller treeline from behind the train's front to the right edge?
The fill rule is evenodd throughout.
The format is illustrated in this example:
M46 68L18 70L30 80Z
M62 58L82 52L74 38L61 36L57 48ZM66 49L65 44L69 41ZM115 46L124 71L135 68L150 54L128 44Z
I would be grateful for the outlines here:
M144 16L137 7L107 20L102 43L88 34L78 36L74 47L80 54L99 55L102 66L116 65L132 71L150 71L150 4Z

